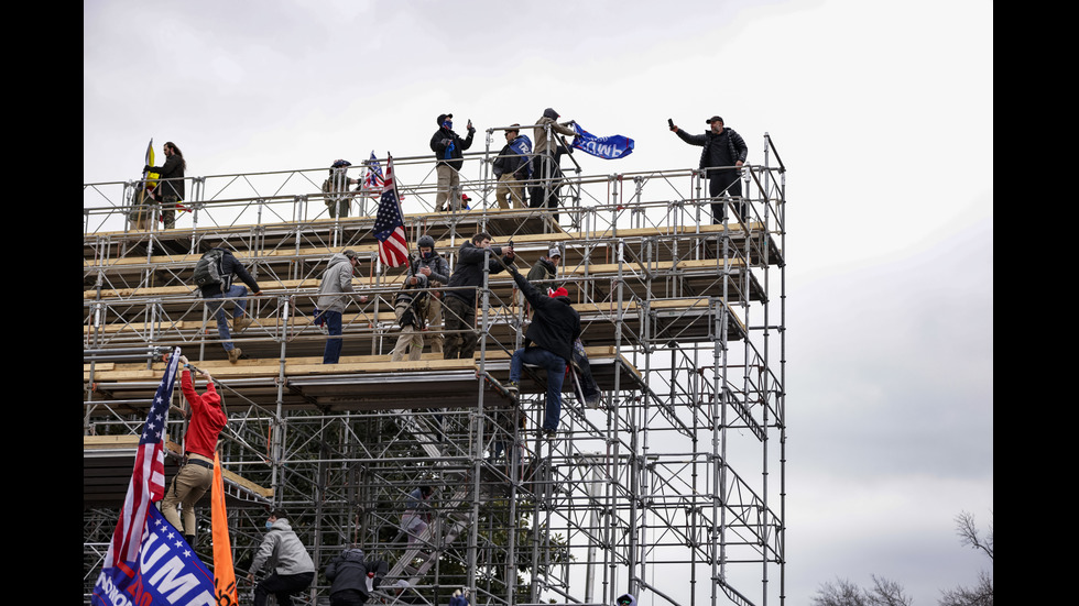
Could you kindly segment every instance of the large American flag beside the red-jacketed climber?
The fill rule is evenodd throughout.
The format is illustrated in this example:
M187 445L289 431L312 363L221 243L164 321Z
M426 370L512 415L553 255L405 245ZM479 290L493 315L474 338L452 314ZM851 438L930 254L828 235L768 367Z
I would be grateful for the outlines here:
M112 532L112 543L109 544L109 551L105 557L106 569L117 563L132 562L139 557L142 531L146 524L146 509L165 496L163 437L178 364L179 348L176 348L168 357L165 376L161 377L161 385L154 394L146 422L142 426L134 471L131 472L131 483L128 484L128 496L123 499L123 509Z

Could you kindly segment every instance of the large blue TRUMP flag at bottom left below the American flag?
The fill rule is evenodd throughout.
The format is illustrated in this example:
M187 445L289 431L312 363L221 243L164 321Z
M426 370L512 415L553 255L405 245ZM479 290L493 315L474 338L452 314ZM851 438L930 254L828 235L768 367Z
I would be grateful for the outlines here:
M149 507L142 546L134 562L102 569L90 603L102 606L218 606L214 575L195 550Z

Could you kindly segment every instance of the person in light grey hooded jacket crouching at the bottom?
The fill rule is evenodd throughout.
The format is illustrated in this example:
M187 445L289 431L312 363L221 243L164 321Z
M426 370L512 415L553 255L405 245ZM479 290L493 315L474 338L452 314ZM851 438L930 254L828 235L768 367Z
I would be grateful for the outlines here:
M266 518L266 536L251 563L248 581L254 582L254 573L268 563L272 570L254 587L254 606L265 606L270 594L279 606L292 606L292 594L306 590L315 580L315 563L282 509L274 509Z

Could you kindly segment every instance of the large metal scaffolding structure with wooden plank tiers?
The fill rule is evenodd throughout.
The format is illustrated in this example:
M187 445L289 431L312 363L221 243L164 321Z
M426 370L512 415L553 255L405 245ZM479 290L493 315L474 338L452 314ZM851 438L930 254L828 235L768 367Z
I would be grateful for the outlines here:
M554 440L536 432L544 372L527 370L516 405L504 387L528 321L504 272L478 290L473 360L390 362L404 268L379 262L377 198L357 194L351 217L328 217L339 200L321 191L326 168L187 177L171 230L131 229L139 181L84 185L86 603L173 346L225 396L237 577L279 506L319 573L352 544L385 560L383 604L443 606L461 587L473 605L609 605L626 592L655 605L784 603L785 167L771 137L764 162L742 168L748 216L712 224L716 200L696 169L589 176L574 162L557 214L500 209L490 164L501 130L465 157L470 209L432 210L427 156L394 157L394 173L410 243L432 235L451 267L480 231L512 242L522 273L562 251L549 286L570 290L602 398L586 406L567 382ZM262 288L247 297L254 323L233 331L237 364L192 282L216 246ZM364 261L340 363L325 365L315 299L342 249ZM170 419L170 478L184 429ZM396 541L419 485L435 491L432 524ZM212 570L205 498L193 547ZM240 591L242 602L251 587ZM319 574L304 598L328 595Z

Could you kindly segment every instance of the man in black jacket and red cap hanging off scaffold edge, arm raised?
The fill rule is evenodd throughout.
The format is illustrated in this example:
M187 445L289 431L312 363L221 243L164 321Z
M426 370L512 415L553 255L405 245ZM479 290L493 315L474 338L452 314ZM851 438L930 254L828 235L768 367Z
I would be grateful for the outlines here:
M510 359L510 383L506 388L516 395L525 364L547 371L547 408L541 434L553 438L562 417L562 386L566 365L574 359L574 341L580 337L580 315L569 304L569 293L558 287L551 296L540 293L516 267L510 265L513 282L532 305L532 323L524 334L524 346Z

